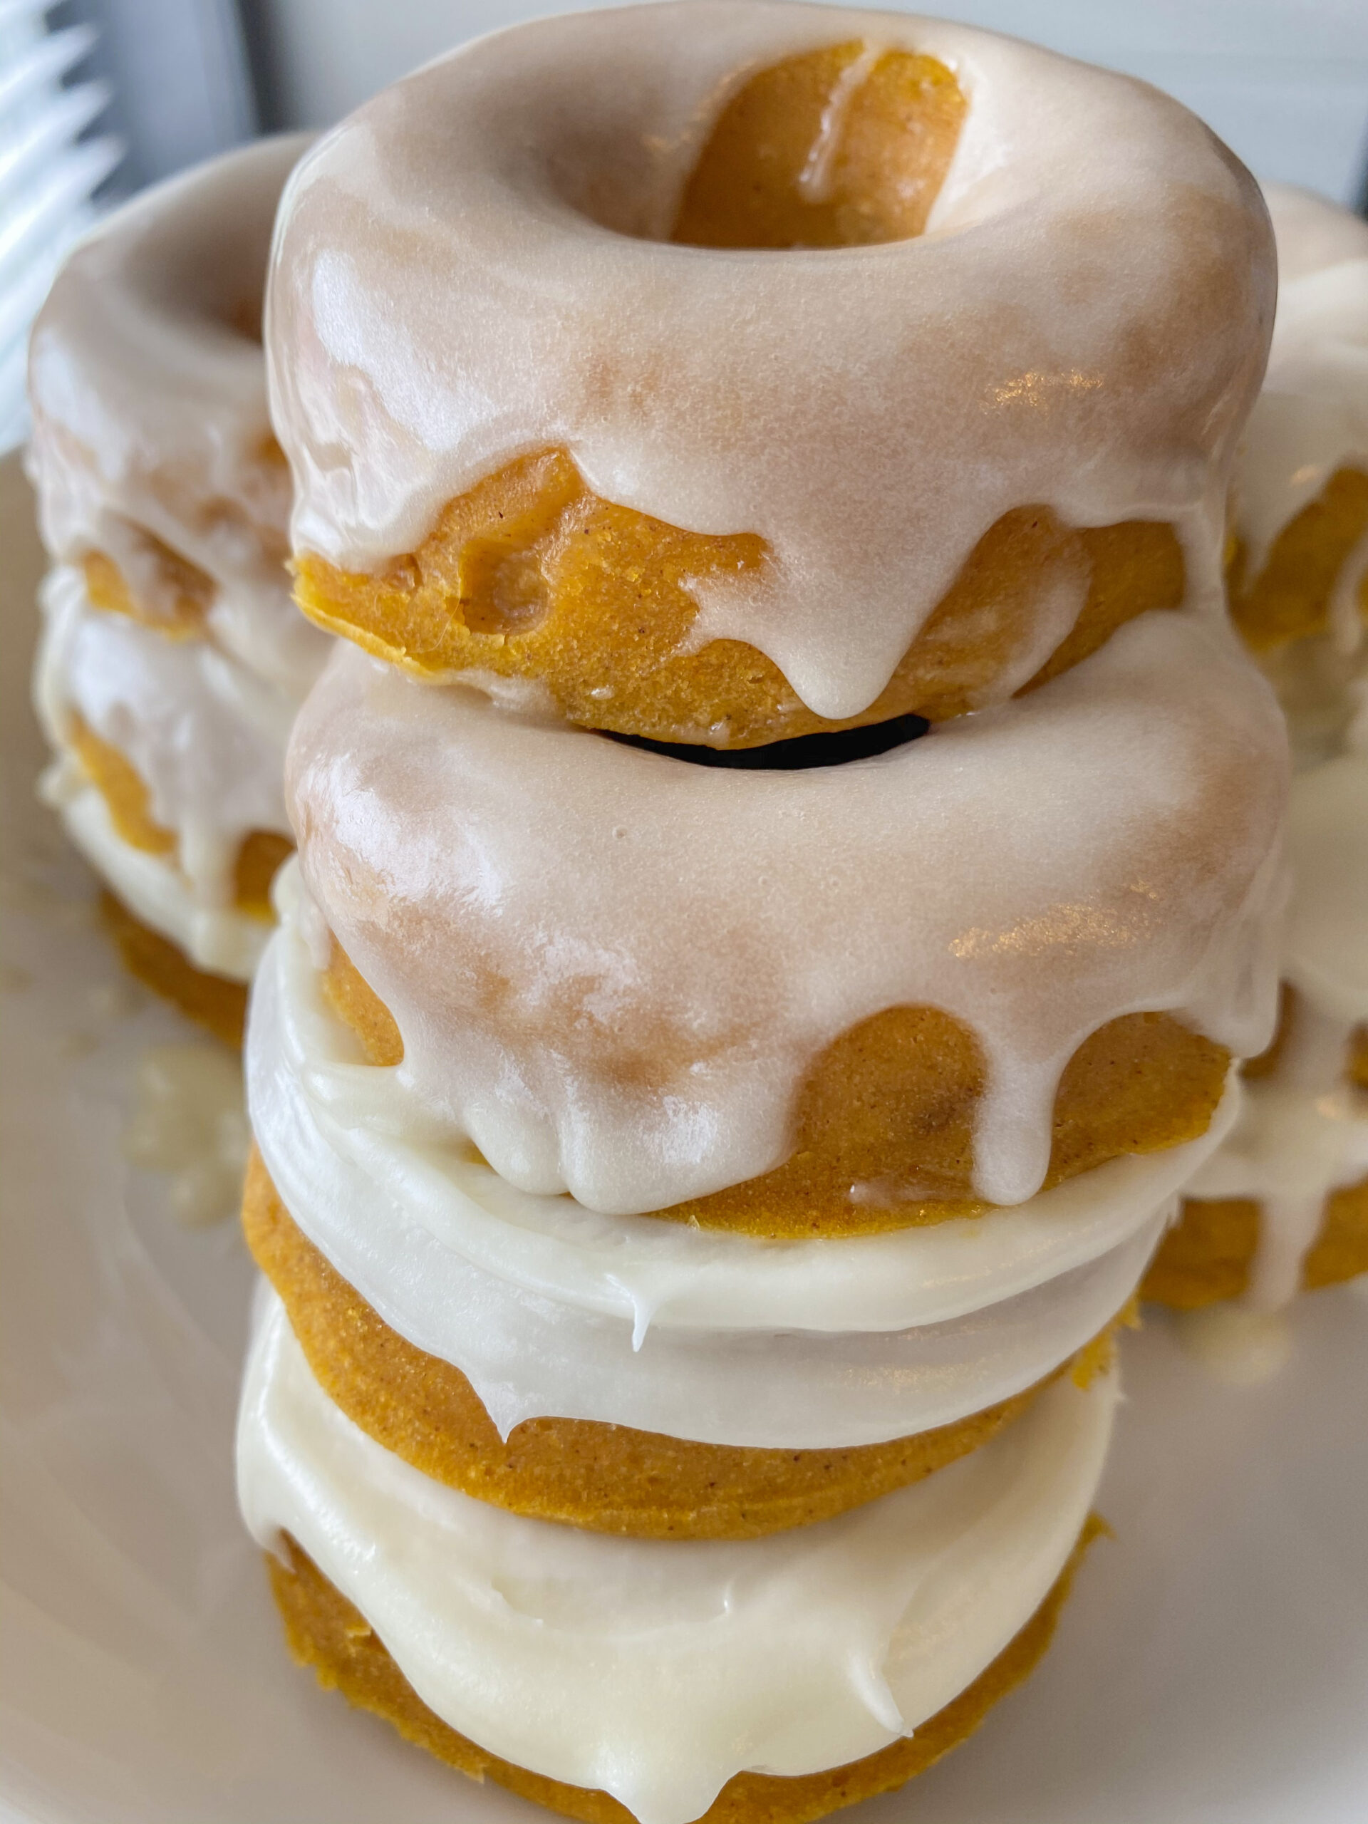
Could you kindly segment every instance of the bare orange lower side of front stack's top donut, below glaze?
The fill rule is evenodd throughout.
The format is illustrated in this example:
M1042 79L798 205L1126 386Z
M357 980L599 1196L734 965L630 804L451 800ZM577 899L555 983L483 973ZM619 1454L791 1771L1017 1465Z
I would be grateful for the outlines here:
M1018 689L1067 671L1122 622L1184 596L1169 525L1067 531L1047 507L1021 507L979 538L874 702L828 719L744 640L689 651L697 580L762 576L764 564L762 540L682 533L615 507L586 489L565 451L547 451L451 502L418 551L376 576L303 553L295 593L328 633L418 677L536 680L573 722L719 748L896 715L963 715L992 700L1062 595L1082 595L1076 620Z

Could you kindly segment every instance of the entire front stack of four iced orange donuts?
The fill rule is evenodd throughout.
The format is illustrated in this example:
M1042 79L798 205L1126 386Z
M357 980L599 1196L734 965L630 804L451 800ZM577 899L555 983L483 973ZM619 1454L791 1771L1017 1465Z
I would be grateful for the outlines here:
M299 863L254 992L244 1516L295 1654L587 1820L967 1735L1277 998L1222 611L1248 173L965 27L502 33L270 277Z

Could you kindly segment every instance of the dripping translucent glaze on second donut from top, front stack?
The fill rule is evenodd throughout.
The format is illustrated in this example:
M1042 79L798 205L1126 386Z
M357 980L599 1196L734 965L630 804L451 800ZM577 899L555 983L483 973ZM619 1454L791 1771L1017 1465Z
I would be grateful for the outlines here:
M339 646L286 799L399 1080L518 1189L633 1213L770 1171L821 1049L928 1003L981 1042L976 1186L1016 1204L1105 1021L1271 1036L1284 768L1229 633L1155 613L1025 699L803 773L688 766Z

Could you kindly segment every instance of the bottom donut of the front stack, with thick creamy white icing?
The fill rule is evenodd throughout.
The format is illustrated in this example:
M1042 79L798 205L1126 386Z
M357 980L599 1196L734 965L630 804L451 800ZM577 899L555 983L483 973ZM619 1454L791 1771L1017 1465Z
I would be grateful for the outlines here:
M330 1406L279 1306L263 1306L243 1397L239 1488L254 1530L279 1541L279 1561L270 1560L270 1570L295 1656L312 1663L325 1685L341 1687L461 1771L494 1777L575 1817L697 1819L751 1809L773 1819L808 1817L885 1791L930 1766L1045 1649L1074 1563L1098 1530L1085 1505L1080 1512L1080 1496L1100 1468L1107 1386L1083 1394L1060 1383L959 1463L795 1532L737 1541L622 1539L509 1514L427 1483ZM372 1474L358 1479L363 1465ZM308 1477L308 1492L299 1472ZM429 1492L420 1496L420 1485ZM414 1499L421 1499L421 1510L409 1507ZM403 1558L394 1556L387 1525L396 1503L414 1516L405 1525ZM332 1538L310 1518L310 1510L323 1508ZM345 1585L356 1589L356 1576L343 1569L361 1541L358 1525L381 1529L359 1554L368 1560L361 1581L370 1585L361 1603L348 1598ZM923 1560L928 1549L936 1554L934 1576ZM445 1580L438 1570L443 1561ZM996 1581L990 1594L983 1589L989 1563L989 1581ZM660 1587L664 1572L671 1572L669 1594ZM981 1594L965 1600L965 1580L974 1574L970 1589ZM399 1609L385 1612L383 1600L376 1607L378 1581L398 1596ZM456 1673L471 1694L476 1680L483 1687L476 1709L507 1704L507 1678L516 1676L503 1663L507 1647L500 1651L491 1631L507 1636L511 1622L513 1634L523 1634L513 1651L531 1689L513 1731L494 1731L498 1746L478 1720L465 1729L449 1722L452 1704L438 1689L441 1674L434 1684L438 1662L430 1651L416 1656L405 1638L401 1609L409 1600L423 1601L429 1640L449 1642L438 1649L447 1673ZM662 1600L673 1609L668 1643L648 1620ZM859 1667L870 1651L859 1638L863 1629L855 1625L850 1638L855 1605L868 1612L874 1653L886 1654L883 1674L870 1671L879 1684L886 1680L890 1693L881 1720L868 1716L863 1724L855 1724L852 1698L857 1707L879 1698L868 1689L870 1673ZM726 1616L722 1631L733 1636L731 1653L719 1653L719 1607ZM775 1623L788 1651L761 1665L755 1647L773 1651L781 1643ZM956 1642L948 1654L947 1636ZM582 1663L586 1653L593 1669ZM700 1656L713 1673L702 1713L689 1691L699 1676L691 1662ZM474 1678L458 1671L467 1660ZM746 1716L746 1691L753 1704L768 1684L773 1705L788 1694L784 1685L797 1696L819 1680L826 1662L841 1669L835 1680L826 1674L826 1709L804 1716L804 1727L845 1740L854 1751L812 1766L810 1744L775 1742L764 1755L768 1775L739 1771L715 1788L715 1749L710 1753L708 1742L722 1716L731 1716L730 1740L737 1744L742 1731L755 1727ZM558 1705L547 1705L553 1685L545 1680L562 1693ZM688 1707L680 1684L689 1691ZM675 1691L677 1709L662 1740L666 1685ZM600 1738L586 1726L609 1691L617 1707ZM916 1729L897 1727L897 1711L888 1707L892 1693L899 1709L925 1705ZM569 1782L545 1771L545 1749L536 1738L547 1733L547 1718L554 1718L551 1736L580 1744L586 1778ZM638 1751L629 1764L624 1747L633 1740L660 1747L648 1760Z

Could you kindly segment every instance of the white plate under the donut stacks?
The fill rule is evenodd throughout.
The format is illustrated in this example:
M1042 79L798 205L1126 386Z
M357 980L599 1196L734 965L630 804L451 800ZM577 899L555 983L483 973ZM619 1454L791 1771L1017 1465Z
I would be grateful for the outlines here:
M286 1660L233 1507L250 1271L124 1160L139 1060L208 1045L142 998L33 801L29 503L0 471L5 655L0 1819L436 1824L542 1813L447 1773ZM137 998L133 998L137 1000ZM1127 1341L1094 1547L981 1735L861 1824L1363 1824L1368 1302L1304 1299L1293 1361L1215 1383Z

